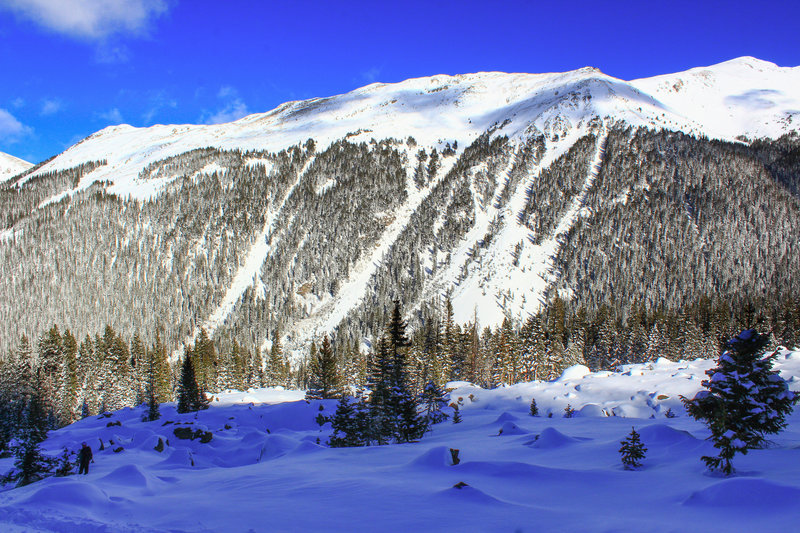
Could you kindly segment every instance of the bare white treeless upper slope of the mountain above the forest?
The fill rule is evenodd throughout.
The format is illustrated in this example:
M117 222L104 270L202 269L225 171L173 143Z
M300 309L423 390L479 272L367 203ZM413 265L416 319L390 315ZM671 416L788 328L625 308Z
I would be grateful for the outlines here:
M206 146L277 151L314 138L324 148L348 134L353 141L410 135L423 146L453 140L465 146L506 120L501 133L512 138L535 130L553 137L593 117L723 139L778 136L798 128L791 119L800 110L798 87L800 68L753 58L633 82L591 67L555 74L439 75L289 102L228 124L113 126L37 172L107 159L81 187L108 179L112 192L147 197L157 191L137 183L142 168Z

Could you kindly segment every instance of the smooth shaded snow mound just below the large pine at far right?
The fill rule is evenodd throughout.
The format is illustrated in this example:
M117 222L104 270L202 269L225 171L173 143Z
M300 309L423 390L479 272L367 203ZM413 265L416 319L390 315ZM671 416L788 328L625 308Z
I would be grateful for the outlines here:
M765 479L733 478L693 492L683 503L690 506L774 509L800 508L800 488Z

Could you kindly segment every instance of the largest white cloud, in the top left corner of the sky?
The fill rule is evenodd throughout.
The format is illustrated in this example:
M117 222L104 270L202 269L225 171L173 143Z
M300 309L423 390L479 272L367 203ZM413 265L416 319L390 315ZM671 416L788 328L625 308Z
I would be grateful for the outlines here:
M169 0L5 0L19 16L58 33L103 39L117 33L141 35L155 17L169 9Z

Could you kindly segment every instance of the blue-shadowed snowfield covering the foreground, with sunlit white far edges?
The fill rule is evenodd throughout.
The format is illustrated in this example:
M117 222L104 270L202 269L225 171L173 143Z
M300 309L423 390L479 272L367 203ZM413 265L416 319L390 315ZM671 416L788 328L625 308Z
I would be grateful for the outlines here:
M91 473L0 493L0 531L796 531L800 411L768 449L738 456L735 476L709 474L700 460L714 454L709 433L678 396L693 396L712 365L573 367L496 390L456 383L462 423L369 448L318 445L328 430L314 418L335 402L309 404L297 391L221 394L197 415L163 405L156 422L141 422L142 408L89 417L45 447L88 441ZM783 352L775 368L800 389L800 352ZM542 416L529 415L531 397ZM563 417L567 404L574 418ZM212 440L178 439L186 424ZM631 426L648 448L639 471L623 470L618 453ZM169 439L162 452L159 437Z

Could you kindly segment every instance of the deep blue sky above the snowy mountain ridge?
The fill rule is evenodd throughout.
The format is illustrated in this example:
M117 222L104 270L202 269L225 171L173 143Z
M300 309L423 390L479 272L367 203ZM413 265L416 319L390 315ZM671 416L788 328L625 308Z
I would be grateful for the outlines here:
M38 162L108 125L225 122L433 74L800 65L800 2L755 4L0 0L0 151Z

